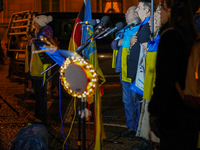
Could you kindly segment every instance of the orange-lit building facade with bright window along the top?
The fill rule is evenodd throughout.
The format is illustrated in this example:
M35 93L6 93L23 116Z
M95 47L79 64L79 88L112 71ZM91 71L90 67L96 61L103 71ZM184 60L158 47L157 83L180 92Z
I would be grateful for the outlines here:
M160 0L154 0L158 4ZM0 39L6 42L7 26L13 13L21 11L35 12L79 12L84 0L0 0L3 11L0 12ZM91 0L92 12L125 13L138 0ZM2 44L4 47L5 44Z

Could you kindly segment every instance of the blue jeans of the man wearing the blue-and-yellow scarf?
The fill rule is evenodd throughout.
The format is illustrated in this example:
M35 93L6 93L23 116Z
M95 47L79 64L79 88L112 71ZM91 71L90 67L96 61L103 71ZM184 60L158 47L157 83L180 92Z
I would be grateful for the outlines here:
M139 118L140 118L140 104L135 105L136 101L139 101L137 94L131 91L129 88L131 83L122 81L122 74L120 73L120 81L122 84L122 99L124 102L124 110L126 115L126 126L135 132L137 132Z

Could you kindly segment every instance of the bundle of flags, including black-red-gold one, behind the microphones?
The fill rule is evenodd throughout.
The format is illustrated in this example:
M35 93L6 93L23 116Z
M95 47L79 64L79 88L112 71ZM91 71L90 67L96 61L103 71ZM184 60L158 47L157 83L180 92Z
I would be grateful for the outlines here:
M84 44L87 39L94 33L92 26L81 26L78 22L82 21L90 21L92 20L91 13L91 4L90 0L84 1L84 4L77 16L77 19L74 24L74 29L71 35L71 39L69 42L68 50L75 51L80 45ZM94 103L95 103L95 130L94 130L94 139L95 139L95 150L102 149L103 138L105 138L103 123L102 123L102 115L101 115L101 91L100 86L105 82L105 78L103 73L98 65L97 58L97 48L96 42L92 41L90 44L84 49L84 56L88 59L89 63L94 66L96 73L99 76L100 85L97 83L97 89L95 91ZM90 98L91 101L91 98Z

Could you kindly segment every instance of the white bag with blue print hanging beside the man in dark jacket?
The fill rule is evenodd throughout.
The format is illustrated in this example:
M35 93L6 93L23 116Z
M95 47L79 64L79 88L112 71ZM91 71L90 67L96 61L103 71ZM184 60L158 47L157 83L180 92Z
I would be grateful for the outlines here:
M143 53L144 47L140 44L140 54L138 59L137 73L135 78L135 86L140 90L144 90L144 77L145 77L145 54Z

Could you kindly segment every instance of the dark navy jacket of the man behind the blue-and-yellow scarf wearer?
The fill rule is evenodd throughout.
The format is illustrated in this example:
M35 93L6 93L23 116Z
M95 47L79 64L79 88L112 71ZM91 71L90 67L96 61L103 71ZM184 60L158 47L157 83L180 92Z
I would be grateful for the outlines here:
M132 82L135 80L138 59L140 54L140 44L148 42L150 40L150 27L149 23L141 25L137 33L137 42L130 49L130 55L128 56L128 66L127 66L127 76L132 79Z

